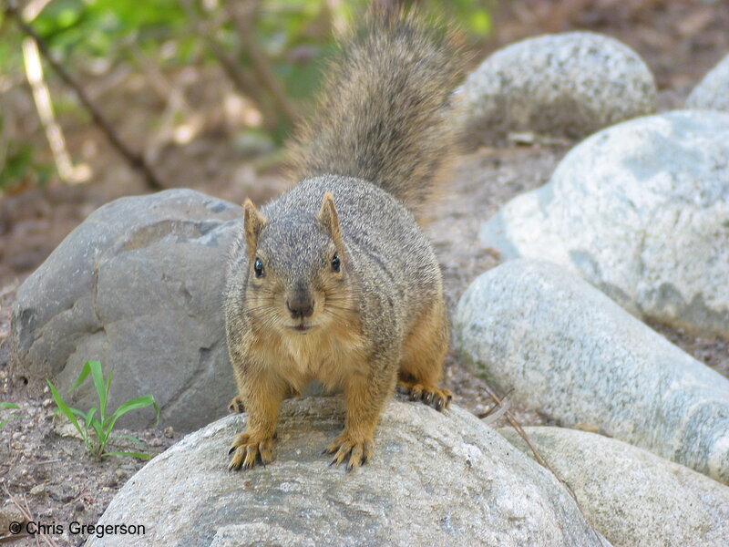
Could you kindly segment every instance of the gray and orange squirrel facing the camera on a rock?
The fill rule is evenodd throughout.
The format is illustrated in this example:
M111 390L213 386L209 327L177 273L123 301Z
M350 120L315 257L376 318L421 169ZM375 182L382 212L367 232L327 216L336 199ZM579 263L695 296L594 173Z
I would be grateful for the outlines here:
M416 221L457 144L463 74L449 28L371 11L330 62L318 116L293 140L289 191L243 204L224 293L226 341L247 427L229 470L272 461L285 397L342 388L344 430L324 450L347 470L372 457L399 384L438 410L449 327L436 254Z

